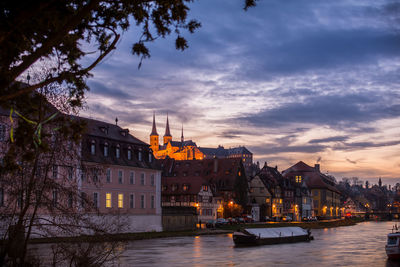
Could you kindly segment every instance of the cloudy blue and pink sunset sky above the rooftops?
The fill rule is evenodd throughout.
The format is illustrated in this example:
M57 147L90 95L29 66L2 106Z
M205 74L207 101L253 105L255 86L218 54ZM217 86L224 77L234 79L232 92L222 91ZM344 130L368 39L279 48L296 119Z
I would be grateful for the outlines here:
M198 0L202 23L149 44L138 69L132 27L93 71L82 116L114 122L149 142L245 146L285 170L298 161L342 177L400 182L400 1Z

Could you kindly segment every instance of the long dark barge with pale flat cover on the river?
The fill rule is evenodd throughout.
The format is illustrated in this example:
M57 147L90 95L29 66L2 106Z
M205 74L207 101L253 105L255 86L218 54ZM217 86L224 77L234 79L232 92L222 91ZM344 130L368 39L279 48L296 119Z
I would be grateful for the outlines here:
M314 239L310 230L301 227L248 228L233 233L236 246L259 246L304 242Z

